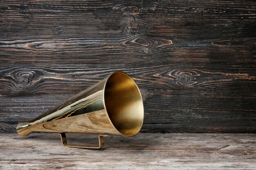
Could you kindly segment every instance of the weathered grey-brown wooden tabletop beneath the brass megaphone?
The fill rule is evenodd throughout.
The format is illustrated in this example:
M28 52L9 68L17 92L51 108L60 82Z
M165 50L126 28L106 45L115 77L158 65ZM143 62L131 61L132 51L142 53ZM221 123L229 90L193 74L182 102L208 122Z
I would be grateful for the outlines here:
M97 141L68 134L69 142ZM58 134L0 134L0 169L256 170L256 134L109 136L100 150L67 148Z

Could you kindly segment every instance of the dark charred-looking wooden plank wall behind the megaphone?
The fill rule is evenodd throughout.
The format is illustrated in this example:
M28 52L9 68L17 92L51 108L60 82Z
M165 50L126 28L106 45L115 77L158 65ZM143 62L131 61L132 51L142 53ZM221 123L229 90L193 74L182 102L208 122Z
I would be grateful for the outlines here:
M142 132L256 132L256 2L0 1L0 132L113 71Z

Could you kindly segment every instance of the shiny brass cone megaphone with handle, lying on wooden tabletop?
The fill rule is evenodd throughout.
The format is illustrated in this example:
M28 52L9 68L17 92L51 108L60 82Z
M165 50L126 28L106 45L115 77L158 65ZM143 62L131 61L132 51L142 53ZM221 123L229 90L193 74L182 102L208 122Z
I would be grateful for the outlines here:
M103 136L136 135L143 124L141 93L133 79L115 72L94 86L26 123L18 123L17 132L54 132L61 135L63 146L101 148ZM99 146L67 144L65 133L98 134Z

